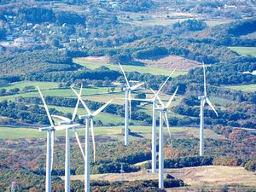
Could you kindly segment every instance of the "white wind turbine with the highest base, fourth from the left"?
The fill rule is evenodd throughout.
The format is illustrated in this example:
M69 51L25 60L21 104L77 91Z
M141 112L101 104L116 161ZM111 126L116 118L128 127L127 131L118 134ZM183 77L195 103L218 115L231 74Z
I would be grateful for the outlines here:
M125 75L125 71L123 67L119 63L119 67L121 68L122 73L124 74L125 77L125 146L129 144L129 122L128 122L128 115L130 115L130 120L131 120L131 90L136 90L138 87L143 85L144 83L136 84L134 86L131 86L129 84L129 81ZM128 111L128 101L129 103L129 111Z

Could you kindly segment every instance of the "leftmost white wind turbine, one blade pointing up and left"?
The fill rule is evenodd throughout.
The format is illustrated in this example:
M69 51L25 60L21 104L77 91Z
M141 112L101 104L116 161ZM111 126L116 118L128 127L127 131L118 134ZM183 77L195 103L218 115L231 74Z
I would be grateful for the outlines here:
M38 86L37 86L38 88ZM40 128L39 131L47 131L47 152L46 152L46 181L45 181L45 191L50 192L51 191L51 171L53 167L53 153L54 153L54 137L55 131L61 131L61 130L67 130L69 128L72 128L77 125L57 125L55 126L53 123L53 120L50 117L49 109L46 105L46 102L44 101L44 96L41 93L41 90L39 90L39 94L42 98L42 101L44 103L44 108L47 113L47 117L49 119L49 126Z

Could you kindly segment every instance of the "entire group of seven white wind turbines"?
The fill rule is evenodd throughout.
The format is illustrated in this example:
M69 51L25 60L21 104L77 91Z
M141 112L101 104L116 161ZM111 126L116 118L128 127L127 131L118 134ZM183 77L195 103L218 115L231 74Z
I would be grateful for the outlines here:
M204 155L204 106L207 102L209 106L212 108L212 110L218 115L216 110L213 108L212 103L207 97L207 82L206 82L206 71L205 66L203 64L203 75L204 75L204 96L199 96L198 98L201 100L201 121L200 121L200 155ZM170 76L166 79L166 81L160 85L160 89L157 91L154 91L150 89L154 96L152 98L146 98L146 99L132 99L131 98L131 91L137 90L140 86L142 86L144 83L139 83L136 85L130 84L129 80L127 79L125 75L125 71L123 67L119 64L119 67L124 75L125 78L125 139L124 144L125 146L128 146L129 144L129 119L131 120L131 101L139 101L139 102L148 102L152 103L152 172L157 172L156 169L156 113L159 112L159 188L164 189L164 122L166 124L169 137L172 140L171 137L171 131L170 131L170 125L169 121L167 119L167 112L168 108L170 108L172 101L174 97L177 94L178 86L172 96L170 97L169 101L164 104L162 100L160 99L159 93L165 86L165 84L168 82L168 80L171 78L172 73L174 73L175 69L172 71ZM62 117L58 115L50 115L49 108L44 100L44 96L42 95L41 90L38 88L38 92L42 98L42 101L44 103L44 108L47 113L48 119L49 119L49 126L40 128L39 131L47 131L47 152L46 152L46 182L45 182L45 190L46 192L51 191L51 171L53 167L53 154L54 154L54 138L55 138L55 131L66 131L66 144L65 144L65 191L70 191L70 130L73 131L77 143L79 145L81 154L83 155L84 159L84 191L90 192L90 132L92 137L92 148L93 148L93 160L96 160L96 148L95 148L95 136L94 136L94 125L93 125L93 118L102 112L104 108L107 108L109 103L111 103L113 100L110 100L106 104L104 104L101 108L98 108L95 112L91 112L90 109L87 107L86 103L84 102L82 95L82 86L79 90L79 93L71 88L74 92L74 94L78 97L78 101L76 103L76 106L73 110L73 116L72 119L69 119L67 117ZM85 145L84 148L82 147L82 144L79 139L79 135L77 132L77 129L79 128L79 124L75 122L75 118L77 116L77 111L79 108L79 103L82 103L86 113L83 115L79 115L79 119L85 119ZM58 125L54 125L53 118L61 120ZM90 131L89 131L90 129Z

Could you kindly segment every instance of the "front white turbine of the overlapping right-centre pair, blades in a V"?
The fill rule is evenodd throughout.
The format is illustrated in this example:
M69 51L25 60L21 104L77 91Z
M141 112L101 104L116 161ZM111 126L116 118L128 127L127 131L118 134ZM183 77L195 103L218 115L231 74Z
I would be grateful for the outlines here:
M178 89L178 86L177 86ZM156 93L154 92L154 90L152 90L152 92L154 92L154 96L157 97L157 99L159 100L161 107L160 108L156 108L157 111L159 111L160 113L160 131L159 131L159 189L164 189L164 129L163 129L163 119L166 121L166 125L167 125L167 129L169 132L169 136L171 137L171 131L170 131L170 127L169 127L169 121L167 118L167 110L168 108L171 106L172 100L174 99L174 96L177 93L177 89L175 90L175 92L173 93L172 97L170 98L170 100L167 102L167 104L165 105L161 100L160 97L158 95L156 95Z

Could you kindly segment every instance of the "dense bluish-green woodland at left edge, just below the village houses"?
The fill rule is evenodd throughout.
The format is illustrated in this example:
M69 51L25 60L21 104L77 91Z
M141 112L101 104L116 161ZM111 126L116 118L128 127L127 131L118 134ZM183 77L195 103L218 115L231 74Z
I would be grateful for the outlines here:
M0 56L0 76L21 76L26 73L76 70L80 66L72 58L57 51L32 51Z

